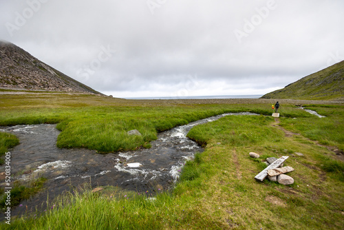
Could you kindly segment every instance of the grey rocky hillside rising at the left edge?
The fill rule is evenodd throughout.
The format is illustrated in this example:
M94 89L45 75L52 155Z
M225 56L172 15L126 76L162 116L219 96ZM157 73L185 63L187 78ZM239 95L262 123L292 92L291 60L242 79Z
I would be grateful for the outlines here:
M0 41L0 88L100 94L12 43Z

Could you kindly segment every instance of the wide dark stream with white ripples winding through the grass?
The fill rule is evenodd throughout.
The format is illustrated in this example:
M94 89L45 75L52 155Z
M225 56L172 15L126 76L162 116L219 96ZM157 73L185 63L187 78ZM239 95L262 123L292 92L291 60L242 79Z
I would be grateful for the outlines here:
M195 125L228 115L259 114L246 112L213 116L159 133L158 139L151 142L150 149L114 154L96 154L89 149L59 149L56 140L60 132L56 125L17 125L2 127L0 131L15 134L20 140L19 145L10 149L12 181L47 178L43 191L21 202L21 207L28 207L30 211L36 206L41 207L47 196L52 200L63 191L87 182L92 188L112 185L152 194L154 189L169 189L178 180L186 160L203 151L186 134ZM1 166L0 171L5 171L4 167ZM6 187L4 180L1 182L1 187ZM19 207L12 210L13 215L19 213Z

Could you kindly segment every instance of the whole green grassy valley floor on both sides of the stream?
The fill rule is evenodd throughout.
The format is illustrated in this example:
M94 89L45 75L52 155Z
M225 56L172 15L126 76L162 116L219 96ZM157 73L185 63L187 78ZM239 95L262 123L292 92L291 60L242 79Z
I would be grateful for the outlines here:
M180 181L155 200L134 191L105 187L67 194L44 213L12 220L7 229L343 229L344 164L331 149L344 150L344 106L309 105L325 118L279 101L281 118L270 116L268 100L129 101L86 95L0 96L0 125L58 123L58 147L99 153L149 147L157 132L225 112L191 129L205 147L186 163ZM329 103L330 104L330 103ZM142 136L127 136L138 129ZM1 133L5 153L17 139ZM250 151L261 155L248 156ZM297 156L295 152L304 156ZM262 160L290 156L285 165L294 185L257 182ZM20 207L17 207L20 208Z

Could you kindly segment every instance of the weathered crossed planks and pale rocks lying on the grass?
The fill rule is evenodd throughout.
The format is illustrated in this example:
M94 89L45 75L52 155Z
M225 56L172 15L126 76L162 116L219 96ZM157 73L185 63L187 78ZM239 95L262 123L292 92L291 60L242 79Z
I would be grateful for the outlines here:
M259 154L250 152L250 157L259 158ZM279 159L275 157L267 158L266 165L268 165L268 167L255 176L255 179L263 181L265 178L268 178L271 181L279 182L281 185L292 185L294 179L286 174L290 171L294 171L294 169L290 166L283 167L283 162L288 159L288 157L289 156L282 156Z

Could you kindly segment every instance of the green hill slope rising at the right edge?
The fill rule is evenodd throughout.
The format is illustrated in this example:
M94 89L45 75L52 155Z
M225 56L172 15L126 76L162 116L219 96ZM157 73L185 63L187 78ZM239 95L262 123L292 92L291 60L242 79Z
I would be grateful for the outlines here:
M344 61L336 63L281 90L265 94L261 98L288 98L305 100L344 99Z

